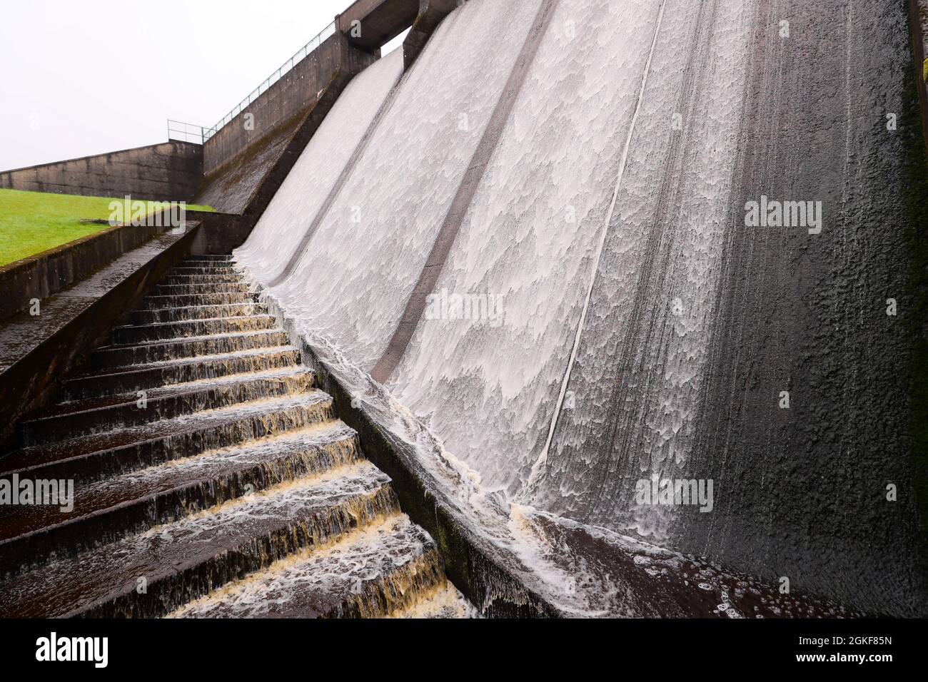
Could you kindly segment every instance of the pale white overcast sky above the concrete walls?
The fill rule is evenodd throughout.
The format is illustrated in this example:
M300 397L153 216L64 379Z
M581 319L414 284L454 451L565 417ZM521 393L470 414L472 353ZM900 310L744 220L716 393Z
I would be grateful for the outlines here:
M26 0L0 19L0 170L207 127L351 0Z

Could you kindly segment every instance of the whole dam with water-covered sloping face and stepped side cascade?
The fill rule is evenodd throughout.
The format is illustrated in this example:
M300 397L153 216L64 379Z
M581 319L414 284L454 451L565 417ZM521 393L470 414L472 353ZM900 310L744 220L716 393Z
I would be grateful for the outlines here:
M928 615L918 12L432 5L23 416L78 502L4 509L0 612Z

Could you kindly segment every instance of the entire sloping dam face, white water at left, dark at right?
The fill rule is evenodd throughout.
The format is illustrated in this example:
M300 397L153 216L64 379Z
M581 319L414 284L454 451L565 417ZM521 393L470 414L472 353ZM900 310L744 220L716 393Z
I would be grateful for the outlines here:
M509 504L924 615L909 35L895 0L470 0L235 259Z

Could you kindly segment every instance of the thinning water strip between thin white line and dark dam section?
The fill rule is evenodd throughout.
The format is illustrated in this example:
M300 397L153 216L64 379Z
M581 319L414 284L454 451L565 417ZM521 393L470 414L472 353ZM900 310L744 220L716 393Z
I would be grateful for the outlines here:
M671 507L638 508L635 486L690 478L750 9L723 0L664 14L571 367L575 405L561 411L532 498L541 508L655 539L673 521Z

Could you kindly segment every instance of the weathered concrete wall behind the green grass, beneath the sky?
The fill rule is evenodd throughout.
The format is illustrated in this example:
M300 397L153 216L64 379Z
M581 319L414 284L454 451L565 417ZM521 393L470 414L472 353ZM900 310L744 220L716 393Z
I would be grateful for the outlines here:
M0 187L85 197L187 201L203 176L203 148L170 141L0 173Z

